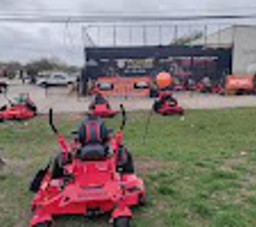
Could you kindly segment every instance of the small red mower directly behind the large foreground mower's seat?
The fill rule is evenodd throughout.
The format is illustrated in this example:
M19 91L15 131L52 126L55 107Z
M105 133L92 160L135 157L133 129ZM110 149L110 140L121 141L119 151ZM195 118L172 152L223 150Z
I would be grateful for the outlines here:
M108 101L101 94L96 94L94 100L89 105L89 112L102 118L114 117L118 113L118 111L110 107Z

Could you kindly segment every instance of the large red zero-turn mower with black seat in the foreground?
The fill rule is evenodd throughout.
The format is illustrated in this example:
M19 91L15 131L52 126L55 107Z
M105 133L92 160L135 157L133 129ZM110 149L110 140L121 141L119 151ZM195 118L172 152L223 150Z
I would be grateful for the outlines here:
M36 195L32 201L30 226L50 226L54 216L96 216L112 212L113 226L128 227L130 207L143 204L146 193L143 181L134 173L133 160L123 146L123 127L113 133L93 115L67 143L52 122L61 152L40 170L31 183Z

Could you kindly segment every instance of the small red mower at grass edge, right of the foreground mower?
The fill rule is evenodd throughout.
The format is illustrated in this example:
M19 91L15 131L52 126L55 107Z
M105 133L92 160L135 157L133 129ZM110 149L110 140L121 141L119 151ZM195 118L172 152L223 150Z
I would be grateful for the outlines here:
M153 110L161 115L183 115L184 109L178 105L170 91L161 91L153 104Z

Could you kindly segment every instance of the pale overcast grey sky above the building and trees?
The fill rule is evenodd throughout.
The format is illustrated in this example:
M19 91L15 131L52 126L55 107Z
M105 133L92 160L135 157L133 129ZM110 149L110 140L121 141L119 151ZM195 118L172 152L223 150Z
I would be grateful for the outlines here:
M256 10L254 0L0 0L0 14L4 13L33 13L35 15L82 15L85 13L107 14L155 14L155 15L205 15L235 13L253 13ZM245 22L243 22L245 23ZM172 23L173 24L173 23ZM191 23L190 23L191 24ZM256 21L255 21L256 24ZM184 25L184 23L183 23ZM58 56L60 59L82 65L84 62L82 51L81 24L24 24L0 23L0 61L20 60L27 62L43 56ZM85 25L84 25L85 26ZM224 26L224 25L222 25ZM184 25L186 27L186 24ZM198 25L203 29L203 25ZM192 30L198 30L193 27ZM217 25L211 25L218 28ZM189 26L180 29L179 35L191 32ZM209 29L210 31L213 29ZM152 42L170 39L170 27L163 27L162 37L158 35L158 28L147 29ZM100 31L96 27L88 30L89 36L95 44L113 44L113 29L105 28ZM155 36L151 34L157 34ZM132 31L132 44L142 42L141 28ZM139 41L138 41L139 40ZM128 29L117 29L117 44L128 44L131 37ZM149 42L149 41L148 41ZM86 41L88 44L88 40Z

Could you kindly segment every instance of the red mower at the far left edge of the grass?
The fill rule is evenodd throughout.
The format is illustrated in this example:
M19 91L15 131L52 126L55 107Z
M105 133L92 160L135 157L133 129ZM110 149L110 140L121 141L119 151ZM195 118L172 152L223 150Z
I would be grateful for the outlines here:
M15 102L8 101L10 106L4 105L0 108L0 122L4 120L29 119L37 114L37 107L28 94L20 94Z

